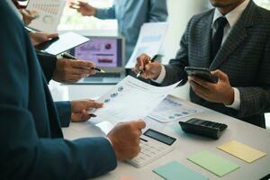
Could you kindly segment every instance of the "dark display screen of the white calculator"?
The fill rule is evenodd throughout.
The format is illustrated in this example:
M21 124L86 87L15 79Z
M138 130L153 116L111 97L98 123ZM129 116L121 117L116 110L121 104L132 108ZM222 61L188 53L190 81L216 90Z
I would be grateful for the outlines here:
M156 130L148 129L143 133L145 136L148 136L149 138L156 139L160 142L165 143L166 145L172 145L175 142L175 138L172 138L170 136L167 136L166 134L160 133Z

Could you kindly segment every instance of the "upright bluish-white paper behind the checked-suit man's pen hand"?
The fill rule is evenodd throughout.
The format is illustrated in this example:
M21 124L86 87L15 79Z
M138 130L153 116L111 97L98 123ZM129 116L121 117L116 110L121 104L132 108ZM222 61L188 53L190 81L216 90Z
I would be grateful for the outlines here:
M166 36L167 27L168 23L144 23L140 27L139 38L126 68L135 67L136 59L143 53L151 58L158 54Z

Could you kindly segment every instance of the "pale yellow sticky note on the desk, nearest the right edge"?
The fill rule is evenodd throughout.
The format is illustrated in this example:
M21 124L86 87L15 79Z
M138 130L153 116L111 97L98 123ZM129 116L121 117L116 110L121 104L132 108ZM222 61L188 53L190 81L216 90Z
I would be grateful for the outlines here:
M230 142L223 144L217 148L220 148L220 150L223 150L232 156L238 157L246 161L247 163L252 163L258 158L266 156L266 153L261 152L256 148L251 148L236 140L231 140Z

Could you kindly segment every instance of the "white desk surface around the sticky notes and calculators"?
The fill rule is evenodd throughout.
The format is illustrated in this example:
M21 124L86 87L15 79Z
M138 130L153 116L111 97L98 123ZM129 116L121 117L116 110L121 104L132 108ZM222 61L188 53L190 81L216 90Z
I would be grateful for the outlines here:
M109 89L110 86L99 87L101 88L101 91L97 91L98 86L68 86L68 93L70 97L78 97L77 95L82 95L80 97L85 98L84 95L88 95L88 93L81 94L81 92L89 92L89 97L94 97L95 94L94 96L91 96L91 91L93 91L93 88L95 88L95 93L100 92L102 94L102 92L105 91L105 88ZM207 176L209 179L255 180L260 179L270 173L269 130L263 130L254 125L248 124L243 121L238 121L237 119L231 118L219 112L211 111L209 109L205 109L204 112L181 119L181 121L186 121L192 117L199 117L210 121L219 121L222 123L226 123L228 124L228 129L224 131L220 139L212 140L195 135L185 134L180 129L180 127L178 127L176 121L173 123L159 123L157 121L148 119L148 126L153 127L153 129L155 130L161 130L177 139L175 149L171 153L167 154L165 157L161 157L153 163L147 166L143 166L141 168L136 168L134 166L130 166L129 164L119 162L117 168L114 171L106 175L102 175L96 179L119 180L119 178L124 175L133 177L137 180L162 180L161 177L152 172L152 169L158 166L162 166L167 162L173 160L176 160L184 164L185 166L193 169L194 171ZM93 124L91 124L91 122L89 121L84 123L71 123L69 128L63 129L63 132L66 139L77 139L102 135L102 132L96 127L94 127ZM258 159L254 163L247 164L246 162L238 159L237 157L232 157L229 154L222 152L216 148L218 145L228 142L232 139L238 140L239 142L245 143L249 146L266 152L267 155L266 157ZM220 157L224 157L231 162L237 163L240 168L220 178L216 175L211 174L207 170L204 170L202 167L194 165L186 159L186 157L189 157L196 152L200 152L202 149L207 149L212 153L219 155Z

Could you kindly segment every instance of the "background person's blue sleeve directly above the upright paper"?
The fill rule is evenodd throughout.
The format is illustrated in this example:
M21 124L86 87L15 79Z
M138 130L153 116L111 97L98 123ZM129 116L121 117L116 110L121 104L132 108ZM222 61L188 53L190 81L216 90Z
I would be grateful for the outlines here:
M150 0L148 22L166 22L166 0Z

